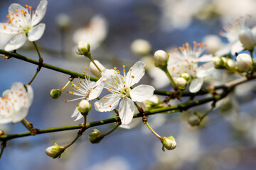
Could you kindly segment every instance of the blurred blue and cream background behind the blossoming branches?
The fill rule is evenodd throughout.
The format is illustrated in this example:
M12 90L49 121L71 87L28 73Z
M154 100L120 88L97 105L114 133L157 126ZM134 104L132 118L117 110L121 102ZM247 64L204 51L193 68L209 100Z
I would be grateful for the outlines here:
M12 3L36 7L39 1L0 1L1 22L6 21ZM250 26L255 26L255 8L254 0L49 0L41 21L46 23L46 31L38 46L44 62L82 73L89 62L75 52L78 39L86 37L92 46L92 57L105 67L129 67L141 60L130 48L137 38L150 42L151 55L159 49L168 51L184 42L201 42L206 35L218 35L223 24L238 16L251 14ZM221 40L227 42L225 38ZM38 59L31 42L18 53ZM0 58L0 91L16 81L28 83L34 72L36 65ZM51 89L63 87L68 78L42 68L33 81L34 101L26 119L36 128L82 123L70 118L77 103L63 102L75 96L64 93L54 100L49 95ZM152 80L146 75L142 82L151 84ZM170 90L171 86L162 89ZM253 83L238 86L221 109L211 112L199 128L188 125L186 113L151 116L149 123L159 135L176 138L173 151L162 152L161 142L141 124L130 130L118 128L97 145L87 140L92 132L89 129L60 159L47 157L45 149L53 142L67 145L75 138L78 130L70 130L9 141L0 169L255 169L254 96ZM111 116L112 113L92 109L87 119L90 122ZM108 132L113 127L97 128ZM26 131L21 123L0 125L0 129L6 134Z

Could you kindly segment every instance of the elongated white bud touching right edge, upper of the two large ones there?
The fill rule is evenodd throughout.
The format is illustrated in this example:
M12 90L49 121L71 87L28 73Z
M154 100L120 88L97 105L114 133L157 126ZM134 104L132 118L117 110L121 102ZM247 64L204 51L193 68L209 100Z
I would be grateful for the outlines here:
M239 40L246 50L253 50L256 44L255 36L250 28L244 28L240 30L238 34Z

